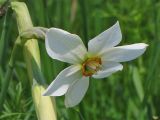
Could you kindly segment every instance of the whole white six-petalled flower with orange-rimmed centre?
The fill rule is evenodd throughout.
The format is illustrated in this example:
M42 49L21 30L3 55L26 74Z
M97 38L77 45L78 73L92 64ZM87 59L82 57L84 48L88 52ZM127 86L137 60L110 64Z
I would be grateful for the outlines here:
M104 78L123 69L120 62L133 60L144 53L147 44L118 46L122 39L119 22L88 43L61 29L50 28L45 37L47 53L53 59L72 64L55 78L43 95L65 94L66 107L80 103L88 86L89 77Z

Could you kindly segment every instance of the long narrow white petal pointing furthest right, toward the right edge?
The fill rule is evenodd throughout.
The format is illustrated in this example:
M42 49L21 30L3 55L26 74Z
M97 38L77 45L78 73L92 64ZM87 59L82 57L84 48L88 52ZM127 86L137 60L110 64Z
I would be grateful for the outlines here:
M114 47L106 50L102 54L102 59L105 61L125 62L136 59L142 55L148 45L144 43L137 43L132 45L125 45Z

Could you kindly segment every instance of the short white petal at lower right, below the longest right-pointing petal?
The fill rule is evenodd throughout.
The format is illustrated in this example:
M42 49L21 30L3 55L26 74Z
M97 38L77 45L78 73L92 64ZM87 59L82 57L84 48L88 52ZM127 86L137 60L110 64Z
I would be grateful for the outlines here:
M101 70L98 71L96 74L92 75L92 77L105 78L122 69L123 69L123 66L120 63L111 62L111 61L102 61Z

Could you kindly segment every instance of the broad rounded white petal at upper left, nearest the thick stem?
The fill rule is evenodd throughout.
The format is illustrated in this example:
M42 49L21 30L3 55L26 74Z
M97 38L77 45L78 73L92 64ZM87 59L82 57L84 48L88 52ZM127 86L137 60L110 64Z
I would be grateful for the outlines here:
M50 57L67 63L79 63L87 52L79 36L57 28L47 31L45 44Z

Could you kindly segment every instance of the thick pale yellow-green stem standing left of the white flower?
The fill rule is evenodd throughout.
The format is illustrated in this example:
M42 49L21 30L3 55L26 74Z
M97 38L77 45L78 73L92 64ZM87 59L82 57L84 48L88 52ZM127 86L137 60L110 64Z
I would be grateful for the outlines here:
M16 14L19 33L33 27L28 8L25 3L11 2L11 7ZM44 118L45 120L56 120L56 110L52 98L42 96L42 88L44 90L45 81L41 73L39 46L36 39L27 40L24 45L24 56L30 83L32 85L32 96L38 120L44 120Z

